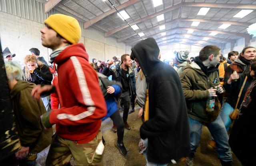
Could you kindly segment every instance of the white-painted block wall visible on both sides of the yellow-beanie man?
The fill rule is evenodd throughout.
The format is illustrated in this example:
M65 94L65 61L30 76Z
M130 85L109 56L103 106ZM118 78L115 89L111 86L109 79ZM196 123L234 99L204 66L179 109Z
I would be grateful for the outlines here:
M40 55L48 61L51 50L43 47L40 39L40 29L43 27L44 25L41 23L0 11L2 49L9 47L11 53L16 53L13 60L22 64L24 57L30 54L29 49L36 47L40 50ZM102 42L82 36L80 42L84 43L90 61L92 58L104 61L112 59L113 56L121 57L123 54L131 52L130 45L123 42L117 43L116 39L112 37L108 37Z

